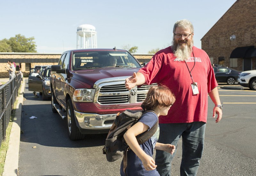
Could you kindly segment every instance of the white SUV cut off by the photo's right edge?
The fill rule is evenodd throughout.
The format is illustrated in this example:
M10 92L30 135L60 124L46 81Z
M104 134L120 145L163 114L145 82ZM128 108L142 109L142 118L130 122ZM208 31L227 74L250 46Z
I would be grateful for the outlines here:
M238 84L256 90L256 70L242 72L239 75Z

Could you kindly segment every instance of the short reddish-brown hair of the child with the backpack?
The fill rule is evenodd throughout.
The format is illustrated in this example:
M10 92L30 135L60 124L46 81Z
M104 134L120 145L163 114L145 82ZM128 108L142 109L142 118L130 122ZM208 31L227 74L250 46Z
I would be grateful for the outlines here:
M175 96L166 86L153 86L148 90L148 94L142 105L147 110L153 110L157 106L171 106L175 102Z

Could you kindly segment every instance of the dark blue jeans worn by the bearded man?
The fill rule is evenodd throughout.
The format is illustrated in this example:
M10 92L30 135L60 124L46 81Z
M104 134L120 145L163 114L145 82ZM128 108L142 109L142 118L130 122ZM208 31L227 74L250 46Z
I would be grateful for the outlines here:
M196 176L199 160L204 149L204 131L206 123L161 123L160 135L157 142L175 145L182 136L182 159L180 164L181 176ZM156 150L156 170L161 176L171 175L171 162L176 150L171 155L168 152Z

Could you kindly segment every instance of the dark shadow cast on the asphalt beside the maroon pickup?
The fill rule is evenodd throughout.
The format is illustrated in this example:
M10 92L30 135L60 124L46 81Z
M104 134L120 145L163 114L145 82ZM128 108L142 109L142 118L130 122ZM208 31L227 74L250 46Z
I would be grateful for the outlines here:
M38 98L37 98L38 99ZM37 118L30 119L35 116ZM71 141L68 138L65 120L51 109L48 104L31 104L22 107L20 141L52 147L92 147L105 145L107 134L88 134L83 140ZM33 145L33 146L32 146Z

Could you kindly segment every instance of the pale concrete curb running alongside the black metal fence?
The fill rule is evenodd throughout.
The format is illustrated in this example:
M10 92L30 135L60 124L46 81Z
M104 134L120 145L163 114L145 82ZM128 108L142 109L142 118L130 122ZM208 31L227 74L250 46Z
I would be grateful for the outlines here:
M18 175L19 150L20 150L20 123L21 123L21 109L23 104L24 89L25 89L25 80L23 79L21 83L21 88L20 88L20 95L18 96L18 103L15 110L15 117L12 123L9 148L6 152L3 176Z

